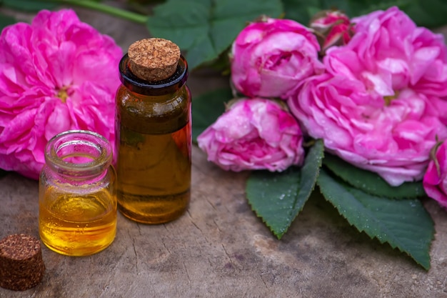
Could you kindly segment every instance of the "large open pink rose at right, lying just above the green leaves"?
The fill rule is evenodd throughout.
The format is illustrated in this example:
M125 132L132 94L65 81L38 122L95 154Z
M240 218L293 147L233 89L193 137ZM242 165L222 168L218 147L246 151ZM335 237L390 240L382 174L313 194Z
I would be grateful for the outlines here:
M426 114L423 94L404 89L387 104L362 81L341 75L313 76L288 106L328 152L393 186L422 179L436 136L447 137L438 117Z

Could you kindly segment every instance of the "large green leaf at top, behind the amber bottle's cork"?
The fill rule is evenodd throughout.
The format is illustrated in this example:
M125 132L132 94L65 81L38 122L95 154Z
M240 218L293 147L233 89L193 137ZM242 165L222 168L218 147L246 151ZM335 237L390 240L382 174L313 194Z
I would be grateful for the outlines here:
M280 0L169 0L156 6L147 26L152 36L170 39L186 51L191 69L213 61L237 34L266 14L278 17Z

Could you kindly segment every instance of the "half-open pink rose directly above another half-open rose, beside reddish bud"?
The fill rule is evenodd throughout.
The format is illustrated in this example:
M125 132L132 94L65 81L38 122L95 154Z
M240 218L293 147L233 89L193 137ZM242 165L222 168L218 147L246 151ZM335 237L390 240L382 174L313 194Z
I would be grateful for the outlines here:
M287 19L263 19L243 29L231 49L231 80L246 96L285 99L321 72L320 46L310 29Z

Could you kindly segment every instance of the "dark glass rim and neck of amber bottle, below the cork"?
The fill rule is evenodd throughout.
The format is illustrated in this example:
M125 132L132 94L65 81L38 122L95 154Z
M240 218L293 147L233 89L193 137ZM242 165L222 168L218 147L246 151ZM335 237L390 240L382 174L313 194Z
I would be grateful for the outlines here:
M134 75L129 67L129 56L125 54L119 63L121 83L131 92L159 96L173 94L186 83L188 79L188 64L184 56L180 56L176 72L162 81L145 81Z

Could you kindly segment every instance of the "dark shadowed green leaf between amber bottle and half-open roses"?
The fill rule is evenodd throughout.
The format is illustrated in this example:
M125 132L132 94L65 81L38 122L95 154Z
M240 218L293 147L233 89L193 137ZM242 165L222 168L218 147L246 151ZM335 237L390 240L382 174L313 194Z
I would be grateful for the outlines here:
M216 89L193 99L193 141L216 119L224 114L225 103L233 98L230 88Z

